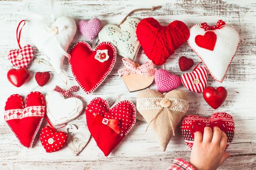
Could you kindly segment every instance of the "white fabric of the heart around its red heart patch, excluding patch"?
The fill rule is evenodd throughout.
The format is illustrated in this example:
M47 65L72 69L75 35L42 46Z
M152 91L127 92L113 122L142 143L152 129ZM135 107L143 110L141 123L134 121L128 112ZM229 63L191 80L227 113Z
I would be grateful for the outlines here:
M224 25L220 29L210 30L217 36L214 50L211 51L196 44L196 36L204 35L207 32L200 27L201 25L197 24L190 29L188 44L202 60L212 77L216 81L222 82L236 54L240 43L240 36L235 28L229 25Z

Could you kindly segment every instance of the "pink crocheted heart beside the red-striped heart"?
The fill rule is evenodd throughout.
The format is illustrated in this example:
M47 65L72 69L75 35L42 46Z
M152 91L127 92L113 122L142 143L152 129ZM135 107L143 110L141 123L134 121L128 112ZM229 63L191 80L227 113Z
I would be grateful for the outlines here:
M164 69L158 69L155 72L155 82L160 93L169 92L177 88L181 83L177 75L170 74Z

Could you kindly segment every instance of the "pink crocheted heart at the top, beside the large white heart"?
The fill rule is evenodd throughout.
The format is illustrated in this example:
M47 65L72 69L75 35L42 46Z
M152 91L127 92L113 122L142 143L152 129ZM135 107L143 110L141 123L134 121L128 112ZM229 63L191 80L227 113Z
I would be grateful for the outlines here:
M96 17L89 21L81 20L78 25L80 32L85 36L85 38L92 40L98 35L98 32L100 31L101 20Z

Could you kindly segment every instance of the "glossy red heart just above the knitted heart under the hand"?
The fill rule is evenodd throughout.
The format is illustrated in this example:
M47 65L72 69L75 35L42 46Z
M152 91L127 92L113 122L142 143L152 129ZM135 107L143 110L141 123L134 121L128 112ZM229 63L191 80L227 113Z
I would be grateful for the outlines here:
M206 87L203 90L203 98L212 108L217 109L227 98L228 91L224 87Z

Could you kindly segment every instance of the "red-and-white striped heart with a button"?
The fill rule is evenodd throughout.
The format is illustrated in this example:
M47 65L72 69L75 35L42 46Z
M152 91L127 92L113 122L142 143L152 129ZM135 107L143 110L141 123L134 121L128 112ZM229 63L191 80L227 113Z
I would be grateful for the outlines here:
M181 76L182 84L196 93L202 93L207 86L208 72L205 67L198 67L192 73L186 73Z

